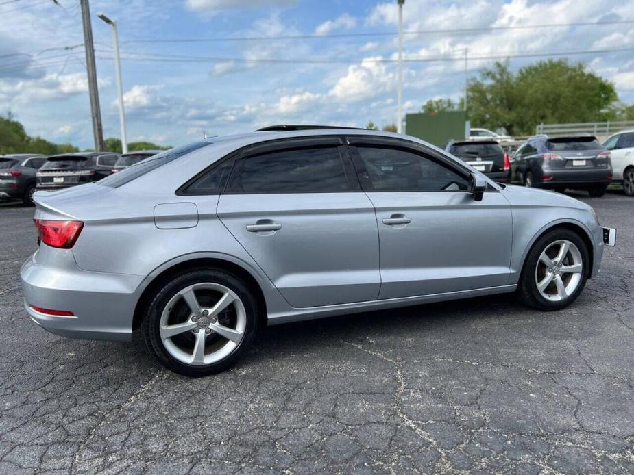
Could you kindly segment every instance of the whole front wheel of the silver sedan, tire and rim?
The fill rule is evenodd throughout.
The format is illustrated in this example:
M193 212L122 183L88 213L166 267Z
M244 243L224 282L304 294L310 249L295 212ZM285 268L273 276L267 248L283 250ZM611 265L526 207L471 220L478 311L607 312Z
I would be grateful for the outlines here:
M570 229L554 229L529 251L517 293L533 308L563 309L583 290L588 266L587 247L579 235Z

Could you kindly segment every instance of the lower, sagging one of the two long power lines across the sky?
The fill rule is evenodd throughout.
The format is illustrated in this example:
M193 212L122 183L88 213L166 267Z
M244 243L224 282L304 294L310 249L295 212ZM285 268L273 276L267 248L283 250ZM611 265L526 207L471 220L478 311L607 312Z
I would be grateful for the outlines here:
M575 51L531 51L526 53L502 54L502 55L483 55L470 56L472 61L479 60L502 60L514 57L545 57L545 56L572 56L599 53L620 53L624 51L634 51L634 47L629 48L613 48L613 49L586 49ZM97 51L98 53L106 53L106 51ZM109 52L108 52L109 53ZM396 63L398 60L390 58L245 58L245 57L214 57L214 56L191 56L191 55L163 55L156 53L141 53L134 51L124 51L124 55L132 55L122 57L127 61L155 61L155 62L237 62L237 63L258 63L258 64L352 64L352 63ZM100 59L112 59L111 57L100 57ZM423 62L451 62L463 61L464 55L460 56L435 56L435 57L411 57L404 58L403 62L423 63Z

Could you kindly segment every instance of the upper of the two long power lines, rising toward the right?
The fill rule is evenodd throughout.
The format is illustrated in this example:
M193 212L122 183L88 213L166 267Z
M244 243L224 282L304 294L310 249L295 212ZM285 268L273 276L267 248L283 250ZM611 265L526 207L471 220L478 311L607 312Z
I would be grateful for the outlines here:
M584 27L584 26L604 26L604 25L625 25L634 23L634 20L600 21L600 22L579 22L579 23L552 23L550 25L513 25L507 27L481 27L481 28L452 28L452 29L422 29L415 31L403 31L404 35L422 34L469 34L480 31L504 31L513 29L539 29L539 28L561 28L561 27ZM367 33L332 33L326 35L306 34L306 35L280 35L280 36L228 36L219 38L173 38L173 39L140 39L125 40L124 43L195 43L195 42L232 42L232 41L261 41L261 40L310 40L319 38L359 38L366 36L396 36L397 31L374 31Z

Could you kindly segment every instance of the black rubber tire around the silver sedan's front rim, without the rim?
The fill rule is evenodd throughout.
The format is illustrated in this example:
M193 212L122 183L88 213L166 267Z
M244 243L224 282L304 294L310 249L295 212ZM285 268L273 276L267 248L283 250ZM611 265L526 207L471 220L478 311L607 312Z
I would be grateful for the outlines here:
M542 251L550 246L550 244L558 240L568 240L578 248L581 253L583 270L581 271L581 281L579 281L576 290L565 299L555 302L544 298L544 296L542 296L537 289L535 269L537 268L537 261ZM522 273L520 274L520 281L517 285L517 296L518 298L520 298L522 303L528 305L528 307L533 307L534 309L542 311L554 311L568 307L568 305L573 303L578 295L581 294L581 291L585 286L589 264L590 262L587 246L585 245L585 242L583 242L583 239L581 239L581 237L579 237L577 233L575 233L574 231L570 231L570 229L563 228L548 231L543 236L541 236L541 238L539 238L537 242L535 242L535 244L533 244L531 251L529 251L528 255L526 256L524 267L522 267Z

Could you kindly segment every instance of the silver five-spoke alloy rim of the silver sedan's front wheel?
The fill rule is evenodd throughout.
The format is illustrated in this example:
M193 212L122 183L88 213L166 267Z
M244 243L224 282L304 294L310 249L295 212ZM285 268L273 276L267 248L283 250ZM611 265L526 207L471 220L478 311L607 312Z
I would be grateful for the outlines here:
M541 252L535 267L537 290L547 300L559 302L572 294L581 283L581 252L568 240L554 241Z

